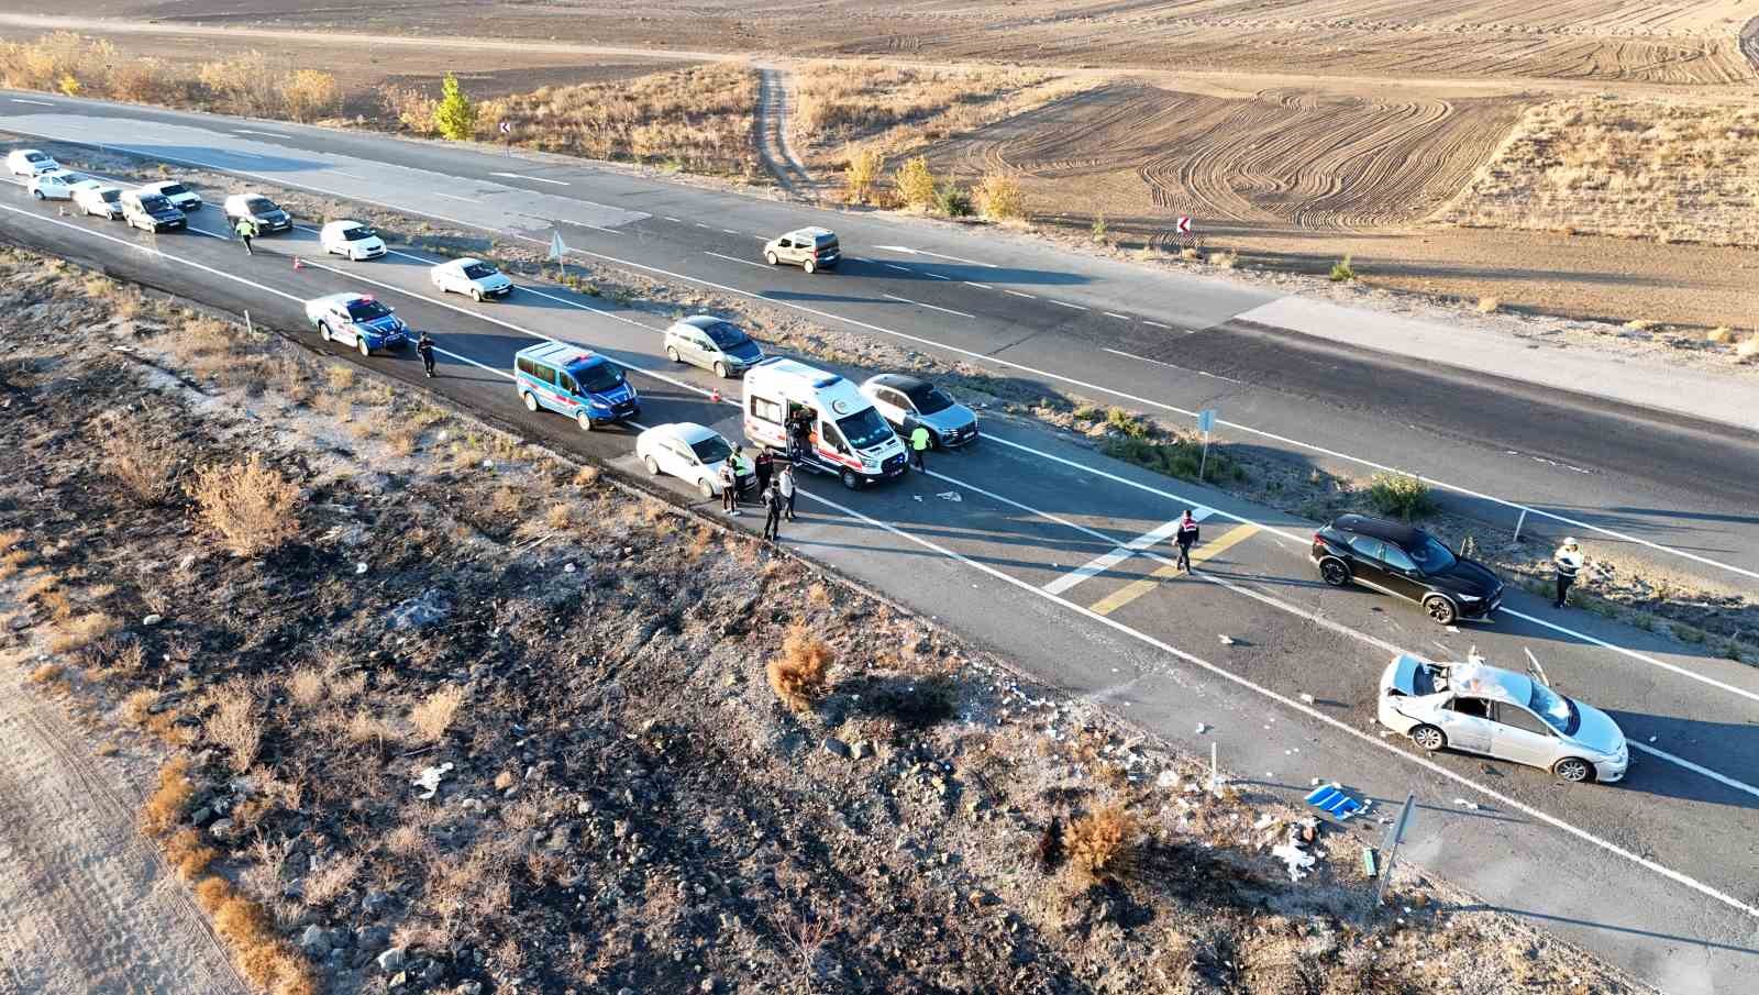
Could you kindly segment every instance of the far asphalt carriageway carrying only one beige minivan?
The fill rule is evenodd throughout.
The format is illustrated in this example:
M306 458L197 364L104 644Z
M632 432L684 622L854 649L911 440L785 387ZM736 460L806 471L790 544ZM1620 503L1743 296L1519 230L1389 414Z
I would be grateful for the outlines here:
M1690 408L1706 390L1734 390L1683 373L1655 385L1652 406L1632 406L1594 396L1595 383L1476 373L1488 359L1469 350L1437 364L1266 323L1298 301L1247 285L561 156L35 93L0 97L0 128L347 195L503 237L549 243L559 232L582 260L760 297L1045 392L1175 418L1217 408L1224 438L1238 443L1358 476L1420 473L1486 520L1507 526L1530 508L1529 527L1587 533L1590 552L1620 545L1687 575L1759 584L1759 434L1671 410L1673 399ZM841 272L762 264L763 237L806 223L841 234ZM1706 404L1747 410L1748 418L1755 410L1734 397Z

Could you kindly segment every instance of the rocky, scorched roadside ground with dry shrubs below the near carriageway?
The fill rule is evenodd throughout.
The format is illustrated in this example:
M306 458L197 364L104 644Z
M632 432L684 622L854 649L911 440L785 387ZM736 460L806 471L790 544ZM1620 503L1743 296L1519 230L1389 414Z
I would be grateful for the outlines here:
M1365 916L1377 816L1210 793L595 468L58 260L0 287L0 649L169 759L141 824L266 990L1638 991L1421 874Z

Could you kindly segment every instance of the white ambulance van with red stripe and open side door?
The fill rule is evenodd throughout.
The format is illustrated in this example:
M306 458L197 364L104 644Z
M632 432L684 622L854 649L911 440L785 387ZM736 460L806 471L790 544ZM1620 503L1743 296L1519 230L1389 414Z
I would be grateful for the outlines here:
M746 371L744 429L851 490L906 469L904 443L853 383L779 355Z

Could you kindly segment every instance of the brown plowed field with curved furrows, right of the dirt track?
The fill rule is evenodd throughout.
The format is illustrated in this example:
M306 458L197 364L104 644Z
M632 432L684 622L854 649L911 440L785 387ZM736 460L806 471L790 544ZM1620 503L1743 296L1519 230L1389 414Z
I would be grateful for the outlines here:
M943 162L1045 181L1133 174L1138 202L1113 214L1360 230L1435 211L1520 111L1520 100L1493 97L1226 98L1119 84L982 128Z

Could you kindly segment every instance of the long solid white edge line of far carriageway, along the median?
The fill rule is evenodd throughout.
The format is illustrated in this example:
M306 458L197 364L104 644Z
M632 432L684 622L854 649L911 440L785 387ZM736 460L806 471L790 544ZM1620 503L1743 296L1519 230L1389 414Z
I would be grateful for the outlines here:
M40 137L40 139L46 139L46 141L63 141L63 142L69 142L69 144L88 144L88 146L95 146L95 148L100 148L100 149L102 148L109 148L109 146L104 146L102 142L70 141L70 139L62 139L62 137L56 137L56 135L42 135L39 132L30 132L26 128L18 128L18 127L14 127L12 132L35 135L35 137ZM434 214L431 211L420 211L420 209L413 209L413 207L403 207L403 206L398 206L398 204L387 204L383 200L373 200L369 197L361 197L361 195L354 195L354 193L341 193L341 192L336 192L336 190L325 190L322 186L315 186L315 185L310 185L310 183L301 183L297 179L287 179L287 178L281 178L281 176L259 174L259 172L250 172L250 171L230 167L230 165L215 165L211 162L201 162L201 160L192 160L192 158L171 156L171 155L162 155L162 153L141 153L141 151L128 149L127 146L116 146L116 148L121 148L123 151L130 151L132 155L139 155L139 156L144 156L144 158L158 158L158 160L164 160L164 162L181 162L181 163L188 163L188 165L199 165L202 169L213 169L216 172L230 172L230 174L236 174L236 176L255 176L259 179L269 179L269 181L280 183L283 186L292 186L292 188L299 188L299 190L313 190L317 193L329 193L331 197L347 197L347 199L361 200L361 202L366 202L366 204L376 204L380 207L389 207L392 211L403 211L403 213L408 213L408 214L420 214L420 216L427 216L427 218L436 218L440 222L450 222L454 225L463 225L466 229L478 229L478 230L494 232L494 234L501 234L501 236L512 236L512 237L517 237L517 239L522 239L522 241L528 241L528 243L547 244L545 239L538 239L538 237L531 237L531 236L522 236L522 234L517 234L517 232L508 232L507 229L496 229L496 227L477 223L477 222L461 222L457 218L449 218L445 214ZM704 227L707 227L707 225L704 225ZM820 318L827 318L827 320L832 320L832 322L843 322L843 323L848 323L848 325L853 325L853 327L858 327L858 329L867 329L871 332L878 332L878 334L883 334L883 336L892 336L892 338L897 338L897 339L913 341L913 343L920 343L920 345L925 345L925 346L939 348L939 350L945 350L945 352L959 353L959 355L974 359L978 362L994 362L997 366L1006 366L1010 369L1018 369L1018 371L1024 371L1024 373L1031 373L1034 376L1043 376L1043 378L1048 378L1048 380L1057 380L1057 381L1062 381L1062 383L1071 383L1075 387L1085 387L1089 390L1099 390L1103 394L1110 394L1113 397L1122 397L1124 401L1135 401L1138 404L1147 404L1150 408L1159 408L1163 411L1173 411L1173 413L1186 415L1186 417L1191 417L1191 418L1194 418L1198 415L1193 410L1180 408L1177 404L1168 404L1164 401L1154 401L1154 399L1149 399L1149 397L1142 397L1138 394L1129 394L1126 390L1117 390L1113 387L1101 387L1098 383L1091 383L1091 381L1085 381L1085 380L1077 380L1073 376L1062 376L1059 373L1050 373L1048 369L1038 369L1038 367L1027 366L1024 362L1013 362L1013 360L1006 360L1006 359L999 359L999 357L992 357L992 355L983 355L983 353L978 353L978 352L973 352L973 350L959 348L959 346L953 346L953 345L939 343L939 341L934 341L934 339L927 339L927 338L922 338L922 336L911 336L908 332L899 332L899 330L894 330L894 329L887 329L883 325L874 325L872 322L862 322L860 318L848 318L844 315L837 315L837 313L832 313L832 311L825 311L821 308L813 308L813 306L807 306L807 304L800 304L797 301L769 299L769 297L763 297L762 294L756 294L756 292L751 292L751 290L741 290L737 287L728 287L725 283L714 283L711 280L702 280L700 276L686 276L682 272L672 272L672 271L661 269L658 265L647 265L644 262L619 258L619 257L614 257L614 255L609 255L609 253L593 251L593 250L572 248L568 251L575 251L575 253L580 253L580 255L589 255L589 257L595 257L595 258L603 258L603 260L609 260L609 262L616 262L619 265L630 265L630 267L635 267L635 269L646 269L647 272L658 272L661 276L670 276L674 280L686 280L686 281L691 281L691 283L698 283L702 287L712 287L716 290L725 290L728 294L739 294L742 297L751 297L755 301L769 301L770 304L779 304L783 308L793 308L795 311L802 311L802 313L807 313L807 315L816 315ZM1006 290L1006 294L1013 294L1015 297L1033 299L1031 294L1020 294L1018 290ZM1295 439L1295 438L1289 438L1289 436L1270 432L1270 431L1265 431L1265 429L1254 429L1252 425L1244 425L1240 422L1226 422L1226 420L1219 420L1219 418L1217 418L1217 422L1223 424L1223 425L1228 425L1231 429L1240 429L1242 432L1249 432L1249 434L1254 434L1254 436L1259 436L1259 438L1266 438L1266 439L1272 439L1272 441L1279 441L1279 443L1284 443L1284 445L1291 445L1291 447L1300 447L1300 448L1312 450L1312 452L1317 452L1317 454L1325 454L1325 455L1330 455L1330 457L1335 457L1335 459L1349 461L1349 462L1354 462L1354 464L1360 464L1360 466L1367 466L1370 469L1379 469L1379 471L1384 471L1384 473L1404 473L1404 471L1400 471L1400 469L1397 469L1393 466L1374 462L1374 461L1360 457L1360 455L1351 455L1351 454L1346 454L1346 452L1339 452L1339 450L1333 450L1333 448L1326 448L1326 447L1316 445L1316 443L1307 443L1307 441L1302 441L1302 439ZM1583 522L1583 520L1578 520L1578 519L1571 519L1567 515L1558 515L1557 512L1546 512L1544 508L1534 508L1530 505L1522 505L1518 501L1509 501L1506 498L1497 498L1495 494L1485 494L1481 490L1472 490L1471 487L1462 487L1458 483L1449 483L1449 482L1441 480L1437 476L1425 476L1423 480L1427 480L1432 487L1442 487L1442 489L1453 490L1456 494L1465 494L1467 498L1478 498L1481 501L1490 501L1490 503L1500 505L1504 508L1511 508L1511 510L1516 510L1516 512L1527 512L1527 513L1537 515L1541 519L1550 519L1553 522L1562 522L1566 526L1573 526L1573 527L1585 529L1585 531L1590 531L1590 533L1595 533L1595 534L1602 534L1602 536L1611 536L1611 538L1620 540L1620 541L1634 543L1634 545L1639 545L1639 547L1645 547L1645 548L1652 548L1652 550L1664 552L1664 554L1669 554L1669 556L1678 556L1678 557L1683 557L1683 559L1690 559L1694 563L1701 563L1704 566L1715 566L1717 570L1726 570L1729 573L1738 573L1741 577L1750 577L1754 580L1759 580L1759 570L1747 570L1747 568L1741 568L1741 566L1734 566L1733 563L1722 563L1722 561L1712 559L1708 556L1699 556L1696 552L1689 552L1689 550L1683 550L1683 548L1666 547L1666 545L1660 545L1660 543L1652 541L1652 540L1645 540L1645 538L1639 538L1639 536L1631 536L1631 534L1620 533L1617 529L1608 529L1604 526L1594 526L1594 524L1588 524L1588 522ZM1624 652L1629 652L1629 650L1624 650Z

